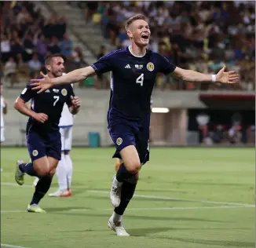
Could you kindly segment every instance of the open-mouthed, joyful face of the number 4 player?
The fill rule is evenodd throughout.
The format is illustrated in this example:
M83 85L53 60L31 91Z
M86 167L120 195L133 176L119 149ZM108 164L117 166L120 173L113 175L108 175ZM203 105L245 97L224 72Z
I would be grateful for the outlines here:
M133 42L137 46L148 46L151 34L148 23L144 20L135 20L130 26L130 31L127 33Z

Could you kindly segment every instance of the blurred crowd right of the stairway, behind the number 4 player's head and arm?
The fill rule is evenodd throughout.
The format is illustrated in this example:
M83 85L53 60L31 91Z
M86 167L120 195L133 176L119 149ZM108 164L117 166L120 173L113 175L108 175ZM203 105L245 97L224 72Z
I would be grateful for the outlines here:
M101 24L104 38L117 49L130 44L125 21L144 13L152 31L150 48L179 67L216 74L225 64L241 75L236 86L223 89L253 90L255 87L255 2L122 1L77 3L86 10L86 21ZM162 89L219 89L175 82L159 75ZM175 82L175 83L174 83Z

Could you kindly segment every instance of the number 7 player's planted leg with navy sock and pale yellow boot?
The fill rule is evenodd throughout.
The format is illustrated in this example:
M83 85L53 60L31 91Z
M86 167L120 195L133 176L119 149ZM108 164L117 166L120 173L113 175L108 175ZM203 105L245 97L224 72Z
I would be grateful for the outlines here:
M53 175L59 162L58 159L53 157L47 157L46 159L49 164L49 172L45 176L39 178L38 184L35 186L33 198L27 206L27 212L46 213L46 211L42 210L39 206L39 202L46 195L47 191L49 191L50 185L53 181Z

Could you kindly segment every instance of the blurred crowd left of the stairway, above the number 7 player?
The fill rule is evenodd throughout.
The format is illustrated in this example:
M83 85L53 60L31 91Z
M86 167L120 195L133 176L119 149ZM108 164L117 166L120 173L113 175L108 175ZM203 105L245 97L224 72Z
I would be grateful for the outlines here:
M82 50L74 49L63 16L48 20L33 2L0 2L2 82L10 87L38 76L44 58L63 53L68 62L80 66Z

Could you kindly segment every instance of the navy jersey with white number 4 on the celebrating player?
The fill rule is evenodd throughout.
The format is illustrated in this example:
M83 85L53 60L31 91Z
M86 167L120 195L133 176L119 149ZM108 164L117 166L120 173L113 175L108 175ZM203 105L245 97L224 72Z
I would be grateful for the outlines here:
M150 99L159 72L175 70L166 57L147 49L144 57L135 57L129 47L108 53L92 64L101 74L112 71L108 113L126 119L144 119L150 113Z

